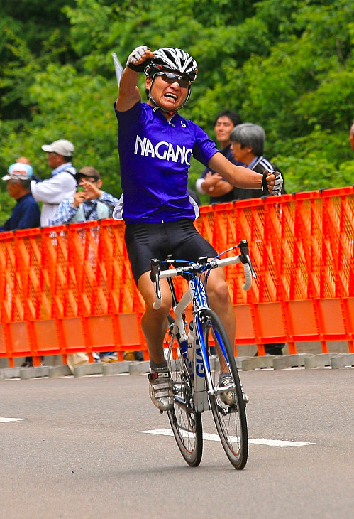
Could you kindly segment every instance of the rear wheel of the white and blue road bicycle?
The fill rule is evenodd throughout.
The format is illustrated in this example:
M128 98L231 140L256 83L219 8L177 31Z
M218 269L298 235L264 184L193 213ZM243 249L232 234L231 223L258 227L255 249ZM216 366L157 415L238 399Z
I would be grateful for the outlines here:
M177 341L172 337L173 318L169 316L171 343ZM178 342L178 341L177 341ZM196 412L193 402L193 381L179 355L172 358L172 344L170 344L167 365L171 373L174 395L174 406L167 411L168 418L175 436L179 451L187 464L198 466L203 453L203 432L201 414ZM179 349L177 349L179 352Z

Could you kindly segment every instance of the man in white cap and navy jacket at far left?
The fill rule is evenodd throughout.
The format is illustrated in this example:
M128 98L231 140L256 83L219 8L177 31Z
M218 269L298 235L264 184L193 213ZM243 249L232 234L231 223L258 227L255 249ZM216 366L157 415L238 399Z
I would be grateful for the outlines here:
M32 166L19 162L11 164L7 175L2 177L7 182L9 196L16 199L16 205L10 218L0 226L0 232L40 227L40 208L30 191L32 177Z

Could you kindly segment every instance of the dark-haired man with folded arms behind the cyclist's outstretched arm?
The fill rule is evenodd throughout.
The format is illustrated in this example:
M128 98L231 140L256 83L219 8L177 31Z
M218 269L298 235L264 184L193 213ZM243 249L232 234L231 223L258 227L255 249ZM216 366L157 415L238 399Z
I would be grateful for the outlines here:
M219 141L221 146L221 154L226 156L226 159L236 164L236 166L243 166L243 163L233 159L230 149L230 133L233 127L241 122L242 119L237 112L223 110L216 116L214 125L216 140ZM233 200L233 186L222 176L218 175L216 171L209 168L205 168L203 173L201 173L196 182L196 189L198 193L209 194L209 203L230 202Z

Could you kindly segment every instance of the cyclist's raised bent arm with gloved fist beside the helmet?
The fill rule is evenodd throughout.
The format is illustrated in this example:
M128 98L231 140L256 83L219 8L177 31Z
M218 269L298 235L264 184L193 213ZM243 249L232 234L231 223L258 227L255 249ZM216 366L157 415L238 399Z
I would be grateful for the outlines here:
M129 68L128 63L132 65L142 65L144 61L153 58L153 53L149 48L146 48L143 54L142 50L137 54L137 49L142 48L138 47L133 50L133 52L128 56L127 66L123 70L123 75L119 84L119 95L116 100L116 109L118 112L126 112L141 99L140 91L138 89L139 74L138 72L135 72L135 70ZM141 57L137 60L136 57L138 57L138 55L141 55Z

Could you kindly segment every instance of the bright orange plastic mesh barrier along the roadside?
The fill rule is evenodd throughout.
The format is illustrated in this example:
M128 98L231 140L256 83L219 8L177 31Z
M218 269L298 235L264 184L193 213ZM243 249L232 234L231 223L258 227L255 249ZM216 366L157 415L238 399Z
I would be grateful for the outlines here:
M198 230L219 252L248 240L258 274L242 289L226 268L236 345L348 341L354 353L354 188L201 207ZM115 220L0 235L0 358L143 350L144 303ZM182 291L184 280L178 282Z

